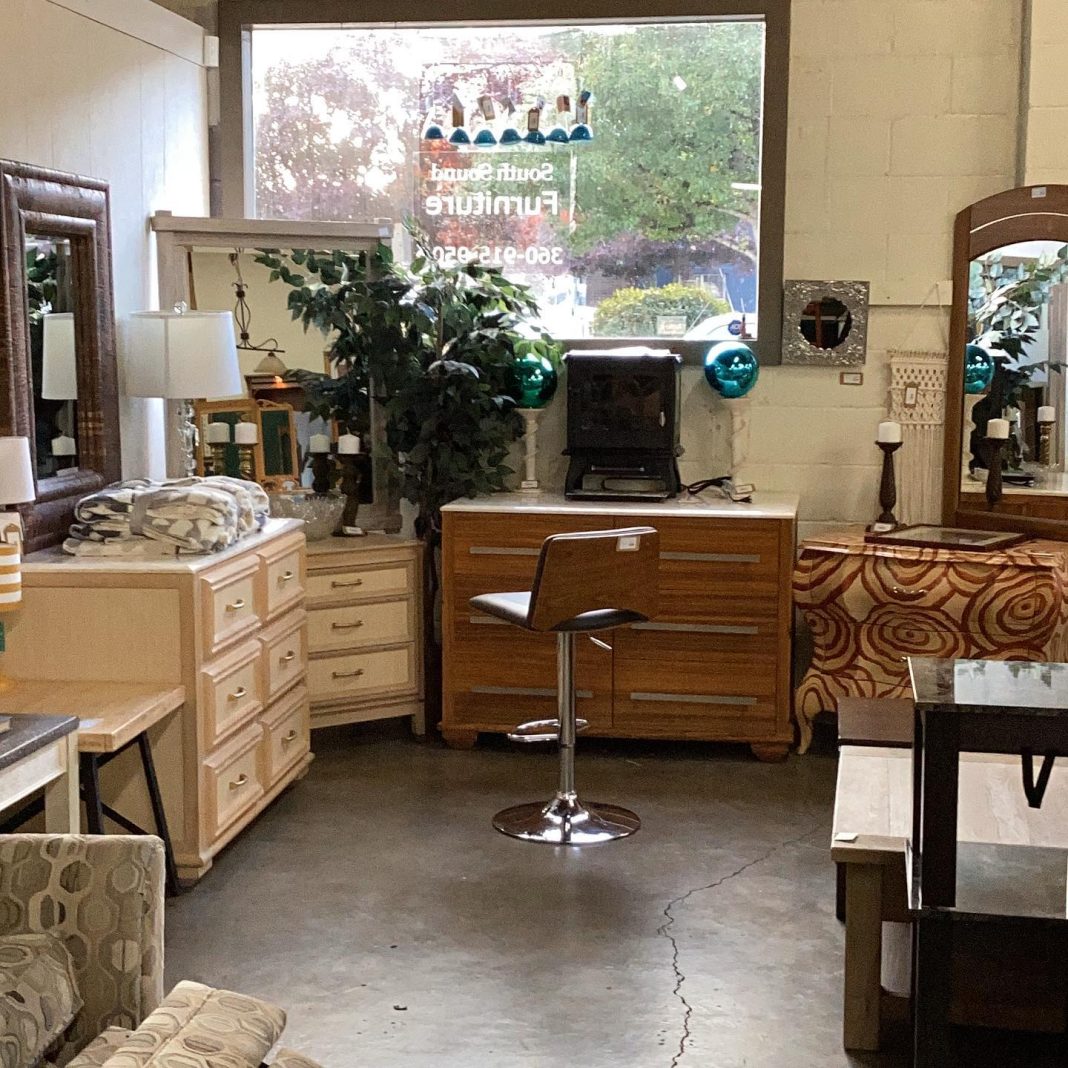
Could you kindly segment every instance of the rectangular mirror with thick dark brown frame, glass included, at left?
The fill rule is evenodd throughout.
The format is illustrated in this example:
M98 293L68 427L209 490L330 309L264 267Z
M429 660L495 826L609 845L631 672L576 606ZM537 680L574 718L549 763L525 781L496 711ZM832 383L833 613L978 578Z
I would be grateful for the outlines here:
M0 160L0 435L30 439L27 548L121 476L107 183Z

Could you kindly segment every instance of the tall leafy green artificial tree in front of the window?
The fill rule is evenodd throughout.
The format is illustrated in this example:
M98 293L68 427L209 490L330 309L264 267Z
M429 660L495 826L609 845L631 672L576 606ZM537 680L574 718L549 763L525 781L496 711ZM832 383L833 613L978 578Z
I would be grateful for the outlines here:
M411 229L411 227L410 227ZM531 326L537 304L525 286L478 263L446 266L411 229L417 255L404 266L387 246L367 261L347 252L263 251L272 280L290 286L304 328L329 339L335 379L292 373L309 408L354 433L370 426L370 398L384 411L392 473L415 506L424 546L427 703L440 695L436 602L441 507L505 489L509 446L522 430L509 372L531 354L557 359Z

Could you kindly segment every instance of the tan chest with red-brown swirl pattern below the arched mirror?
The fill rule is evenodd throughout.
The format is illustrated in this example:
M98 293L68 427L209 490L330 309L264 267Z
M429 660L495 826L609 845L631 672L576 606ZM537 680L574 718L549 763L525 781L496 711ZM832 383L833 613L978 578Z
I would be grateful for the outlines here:
M905 657L1068 659L1068 545L998 552L870 545L861 533L802 543L794 600L812 664L794 697L803 753L838 697L907 697Z

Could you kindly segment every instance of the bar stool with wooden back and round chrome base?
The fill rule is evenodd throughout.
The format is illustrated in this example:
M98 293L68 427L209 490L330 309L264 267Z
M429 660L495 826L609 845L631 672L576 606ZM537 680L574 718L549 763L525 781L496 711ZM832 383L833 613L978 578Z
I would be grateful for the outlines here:
M575 789L575 638L611 648L596 631L644 623L659 610L660 538L651 527L553 534L541 545L534 588L471 598L478 612L556 634L559 719L522 723L513 741L560 742L560 788L548 803L514 805L493 817L502 834L527 842L585 846L633 834L642 821L617 805L583 803Z

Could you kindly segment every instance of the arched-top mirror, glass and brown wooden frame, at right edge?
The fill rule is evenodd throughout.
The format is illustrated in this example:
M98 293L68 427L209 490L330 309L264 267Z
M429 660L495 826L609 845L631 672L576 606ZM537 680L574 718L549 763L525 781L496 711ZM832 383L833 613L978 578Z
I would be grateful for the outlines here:
M1068 186L964 208L953 283L943 522L1068 539Z

